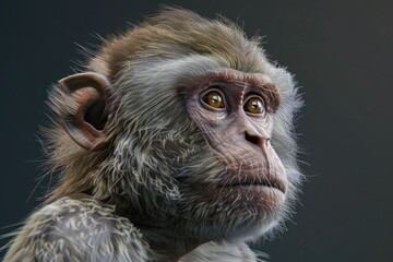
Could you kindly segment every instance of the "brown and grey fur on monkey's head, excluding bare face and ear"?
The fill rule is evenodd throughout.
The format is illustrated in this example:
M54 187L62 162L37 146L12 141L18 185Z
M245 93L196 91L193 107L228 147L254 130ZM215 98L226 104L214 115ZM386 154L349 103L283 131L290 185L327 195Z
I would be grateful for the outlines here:
M290 212L301 180L291 123L301 100L291 75L269 62L259 38L247 39L235 24L171 8L109 38L90 60L87 69L106 75L114 87L116 109L108 127L109 143L102 151L90 152L73 143L58 123L49 129L50 164L61 172L49 202L84 192L119 210L154 214L163 209L164 217L177 214L188 198L179 190L177 176L187 171L202 179L203 174L207 180L224 171L195 124L188 120L179 99L180 87L225 68L263 73L278 88L281 106L273 116L272 144L284 164L289 190L287 205L271 219L282 221ZM71 100L64 104L64 99ZM50 105L59 117L75 110L73 103L53 88ZM141 106L143 103L154 106ZM178 152L171 153L172 147ZM148 193L152 189L154 195ZM187 212L202 217L207 209L207 204L200 204ZM225 221L225 214L221 219ZM235 223L229 228L237 226ZM261 233L270 227L263 228Z

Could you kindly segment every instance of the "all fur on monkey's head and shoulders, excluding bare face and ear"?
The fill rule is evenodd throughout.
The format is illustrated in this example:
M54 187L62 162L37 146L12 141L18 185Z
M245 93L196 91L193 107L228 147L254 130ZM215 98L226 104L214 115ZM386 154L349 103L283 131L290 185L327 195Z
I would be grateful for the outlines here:
M296 163L293 126L301 99L293 76L266 59L259 41L247 39L226 20L206 20L170 8L106 40L86 70L104 74L114 87L109 145L102 151L85 151L71 140L59 119L75 114L78 105L53 86L49 105L55 121L46 130L46 150L49 172L59 170L59 182L46 205L26 222L5 261L48 261L61 259L67 252L78 254L81 261L95 261L98 253L104 261L164 261L132 225L153 217L176 225L174 231L212 240L180 261L257 261L245 241L283 225L293 213L302 178ZM288 190L285 205L276 213L252 216L252 210L239 207L234 215L225 199L202 202L179 187L178 179L209 184L225 171L196 124L188 120L184 102L179 98L184 96L182 86L190 80L226 68L263 73L278 88L281 105L273 115L272 145L284 165ZM75 193L90 196L68 196ZM215 222L209 218L213 213ZM81 228L94 234L86 236L87 240L82 235L69 239L70 230L78 230L74 221L84 219L88 223ZM47 228L51 229L45 235ZM98 242L85 247L93 240ZM75 250L68 251L69 242L78 246ZM128 247L133 247L132 252Z

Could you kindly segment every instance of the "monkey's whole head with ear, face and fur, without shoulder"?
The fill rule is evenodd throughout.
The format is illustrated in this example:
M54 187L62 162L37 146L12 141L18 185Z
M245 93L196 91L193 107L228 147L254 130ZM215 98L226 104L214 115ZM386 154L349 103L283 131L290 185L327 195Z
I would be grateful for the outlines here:
M301 103L228 21L166 9L106 40L50 103L51 199L88 193L135 224L205 239L261 235L290 211Z

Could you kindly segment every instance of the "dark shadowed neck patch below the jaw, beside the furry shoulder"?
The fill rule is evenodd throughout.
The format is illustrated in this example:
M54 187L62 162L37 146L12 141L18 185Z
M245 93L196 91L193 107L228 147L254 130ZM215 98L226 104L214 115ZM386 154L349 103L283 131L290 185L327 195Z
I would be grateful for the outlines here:
M155 228L152 226L135 225L142 233L143 239L152 251L159 257L158 261L178 261L200 245L206 242L187 234L177 234L174 228Z

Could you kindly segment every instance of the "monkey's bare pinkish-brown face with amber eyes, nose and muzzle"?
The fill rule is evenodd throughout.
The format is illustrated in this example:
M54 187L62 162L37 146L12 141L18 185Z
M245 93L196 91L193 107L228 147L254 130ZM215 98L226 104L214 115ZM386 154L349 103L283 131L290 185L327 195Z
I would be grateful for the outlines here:
M180 178L194 204L186 210L219 234L265 230L283 211L287 191L284 166L271 145L277 88L266 75L222 69L194 79L184 93L206 157L216 160L206 174Z

